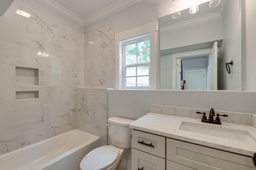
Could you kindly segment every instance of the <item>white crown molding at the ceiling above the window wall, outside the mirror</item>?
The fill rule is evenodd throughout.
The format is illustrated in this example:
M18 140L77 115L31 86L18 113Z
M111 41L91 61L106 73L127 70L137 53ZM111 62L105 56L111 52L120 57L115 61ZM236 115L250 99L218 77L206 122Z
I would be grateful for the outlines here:
M118 12L124 8L127 8L128 6L131 6L133 4L136 4L142 0L120 0L116 2L115 4L108 6L107 8L104 8L103 10L100 10L99 12L96 12L95 14L92 14L91 16L88 16L84 19L84 25L87 26L89 24L92 24L93 22L96 22L106 16L109 16L111 14L114 14L115 12Z

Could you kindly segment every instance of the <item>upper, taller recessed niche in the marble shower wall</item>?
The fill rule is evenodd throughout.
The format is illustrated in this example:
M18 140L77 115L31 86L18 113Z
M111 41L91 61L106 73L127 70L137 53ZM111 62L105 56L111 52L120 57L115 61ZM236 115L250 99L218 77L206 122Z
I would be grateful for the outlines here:
M39 71L35 68L15 67L16 86L35 86L39 85Z

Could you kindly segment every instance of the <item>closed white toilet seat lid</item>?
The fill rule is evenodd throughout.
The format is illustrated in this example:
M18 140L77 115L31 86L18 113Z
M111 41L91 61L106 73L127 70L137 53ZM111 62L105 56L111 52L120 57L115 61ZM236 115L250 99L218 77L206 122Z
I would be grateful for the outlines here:
M81 170L104 170L118 160L119 150L112 146L100 146L89 152L80 162Z

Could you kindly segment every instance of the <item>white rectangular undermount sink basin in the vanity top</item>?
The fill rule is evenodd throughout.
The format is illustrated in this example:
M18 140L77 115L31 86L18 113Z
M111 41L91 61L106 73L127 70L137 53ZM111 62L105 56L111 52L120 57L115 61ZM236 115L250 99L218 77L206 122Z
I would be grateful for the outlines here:
M226 128L220 126L204 125L199 123L192 123L182 121L179 130L195 132L199 134L206 134L220 138L237 140L241 142L256 143L256 138L247 130L239 130L234 128Z

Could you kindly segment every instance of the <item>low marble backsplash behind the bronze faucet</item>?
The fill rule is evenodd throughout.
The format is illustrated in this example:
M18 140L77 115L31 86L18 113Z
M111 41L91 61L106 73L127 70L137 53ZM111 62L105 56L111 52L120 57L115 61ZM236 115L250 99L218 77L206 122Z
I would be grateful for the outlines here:
M236 113L236 112L218 111L218 110L214 110L214 111L216 114L219 113L220 115L228 115L228 117L220 117L222 122L256 126L255 125L256 117L255 115L252 115L250 113ZM206 117L208 118L210 109L205 110L205 109L196 109L196 108L187 108L187 107L150 105L150 112L202 119L202 114L197 114L196 112L201 112L201 113L205 112Z

